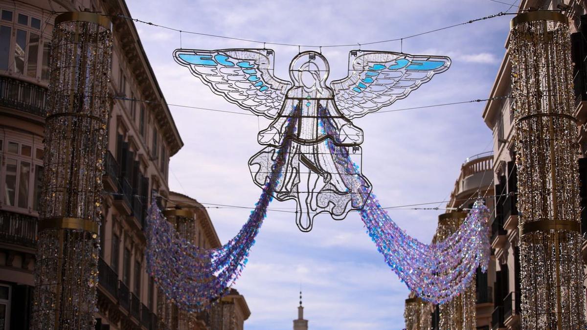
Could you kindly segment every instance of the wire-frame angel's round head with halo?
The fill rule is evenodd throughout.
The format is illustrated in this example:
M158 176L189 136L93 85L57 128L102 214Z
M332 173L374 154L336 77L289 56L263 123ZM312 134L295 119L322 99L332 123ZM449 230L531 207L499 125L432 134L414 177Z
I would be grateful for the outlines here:
M329 66L328 61L321 53L309 50L299 53L289 65L289 76L295 86L306 89L318 89L326 86Z

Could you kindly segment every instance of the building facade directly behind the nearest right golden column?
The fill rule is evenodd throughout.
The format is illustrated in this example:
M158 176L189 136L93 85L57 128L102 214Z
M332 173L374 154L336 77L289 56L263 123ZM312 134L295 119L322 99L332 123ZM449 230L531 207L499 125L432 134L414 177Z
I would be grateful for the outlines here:
M572 0L522 0L519 11L560 10L569 17L574 89L575 117L578 119L578 143L581 146L579 180L581 185L581 231L587 231L587 4ZM511 108L511 59L509 38L505 56L492 86L483 119L493 132L495 210L491 226L491 248L494 254L494 311L491 329L519 329L520 324L520 265L517 203L517 167L515 165L514 113ZM583 260L587 241L583 240Z

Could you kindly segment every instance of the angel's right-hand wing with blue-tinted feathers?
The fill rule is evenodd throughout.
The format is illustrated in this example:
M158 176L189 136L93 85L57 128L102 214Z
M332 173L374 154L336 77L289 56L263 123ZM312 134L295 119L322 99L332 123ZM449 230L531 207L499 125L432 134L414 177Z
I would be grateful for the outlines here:
M353 119L403 99L449 66L444 56L352 50L349 76L330 86L340 112Z

